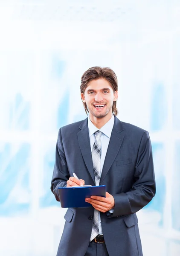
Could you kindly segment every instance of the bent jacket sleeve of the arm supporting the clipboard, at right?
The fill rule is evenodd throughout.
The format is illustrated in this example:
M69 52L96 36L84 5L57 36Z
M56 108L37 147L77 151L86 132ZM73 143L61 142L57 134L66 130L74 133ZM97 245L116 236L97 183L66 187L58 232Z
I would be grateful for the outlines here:
M147 205L156 192L152 147L147 131L142 135L134 170L134 183L126 193L113 195L115 207L108 217L135 213Z

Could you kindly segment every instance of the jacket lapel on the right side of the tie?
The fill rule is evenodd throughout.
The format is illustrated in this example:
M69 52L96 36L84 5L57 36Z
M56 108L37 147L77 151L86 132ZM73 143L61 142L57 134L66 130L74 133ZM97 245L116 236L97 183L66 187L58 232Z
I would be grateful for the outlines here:
M122 127L122 122L119 121L119 119L116 118L114 120L114 126L110 137L110 142L107 148L107 153L105 157L105 163L102 169L102 175L99 182L99 185L102 184L102 181L104 180L105 176L107 175L107 172L109 171L110 167L112 166L119 149L122 145L122 141L124 138L124 130Z

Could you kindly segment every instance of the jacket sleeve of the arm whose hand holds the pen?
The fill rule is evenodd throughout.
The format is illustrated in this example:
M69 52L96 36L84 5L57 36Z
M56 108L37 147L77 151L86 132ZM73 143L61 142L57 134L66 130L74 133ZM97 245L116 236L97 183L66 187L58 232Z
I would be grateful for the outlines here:
M55 195L57 201L60 201L58 187L66 187L69 180L69 171L67 168L66 157L62 143L61 128L58 133L58 140L55 151L55 166L51 181L51 191Z

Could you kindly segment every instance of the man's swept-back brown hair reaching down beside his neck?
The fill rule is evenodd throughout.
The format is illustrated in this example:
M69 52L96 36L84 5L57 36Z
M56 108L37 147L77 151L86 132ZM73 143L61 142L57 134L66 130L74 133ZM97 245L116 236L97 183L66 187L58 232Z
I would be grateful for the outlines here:
M81 93L85 92L90 81L97 79L106 79L113 88L114 93L118 90L117 76L110 67L90 67L81 76ZM86 103L83 102L83 105L86 113L89 112ZM118 110L116 108L116 101L113 102L112 112L115 114L115 116L118 114Z

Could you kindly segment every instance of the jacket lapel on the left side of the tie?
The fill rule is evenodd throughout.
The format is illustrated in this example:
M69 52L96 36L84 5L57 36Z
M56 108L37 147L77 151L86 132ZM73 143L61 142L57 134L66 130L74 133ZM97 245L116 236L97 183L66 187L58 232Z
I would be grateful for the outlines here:
M93 179L94 185L95 185L95 178L94 178L94 170L93 170L93 160L91 155L91 149L90 149L90 137L89 137L89 130L88 130L88 118L85 119L79 128L81 131L78 132L78 143L79 147L81 149L81 154L84 159L84 162L87 166L87 169L90 173L90 176Z

